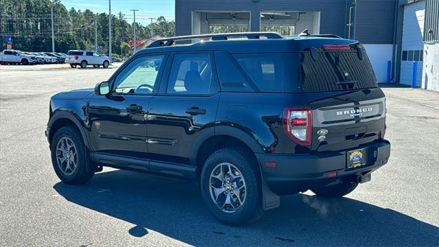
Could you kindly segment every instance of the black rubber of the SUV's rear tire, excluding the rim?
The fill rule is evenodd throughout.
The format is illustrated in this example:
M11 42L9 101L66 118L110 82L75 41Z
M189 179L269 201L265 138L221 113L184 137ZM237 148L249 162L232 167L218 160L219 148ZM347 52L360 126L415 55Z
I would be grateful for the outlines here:
M235 212L222 211L211 197L211 173L221 163L230 163L237 167L246 183L246 198ZM223 148L213 152L204 163L200 178L200 189L204 203L213 217L228 225L249 224L263 215L261 184L257 163L252 154L244 148Z

